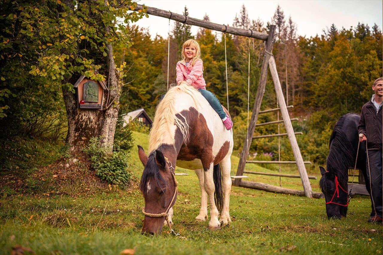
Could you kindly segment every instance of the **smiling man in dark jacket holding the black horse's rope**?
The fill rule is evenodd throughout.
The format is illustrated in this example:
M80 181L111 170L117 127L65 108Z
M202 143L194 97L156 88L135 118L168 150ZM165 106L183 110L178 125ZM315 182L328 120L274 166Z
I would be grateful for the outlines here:
M367 141L366 162L367 185L371 183L372 212L368 222L382 223L382 101L383 78L377 78L372 85L375 92L363 105L358 124L359 141ZM369 170L370 168L370 170ZM374 208L375 204L375 208Z

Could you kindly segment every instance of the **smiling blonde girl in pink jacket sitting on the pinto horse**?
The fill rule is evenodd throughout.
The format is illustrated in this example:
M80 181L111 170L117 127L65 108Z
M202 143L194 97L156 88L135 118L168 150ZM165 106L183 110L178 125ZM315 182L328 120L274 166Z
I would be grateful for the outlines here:
M216 96L206 90L205 79L203 78L203 63L201 59L201 49L197 41L193 39L187 40L182 44L181 51L182 60L177 63L177 85L185 81L189 85L195 87L203 97L208 100L211 107L218 113L222 119L224 126L230 130L233 126L231 119L223 111L221 103Z

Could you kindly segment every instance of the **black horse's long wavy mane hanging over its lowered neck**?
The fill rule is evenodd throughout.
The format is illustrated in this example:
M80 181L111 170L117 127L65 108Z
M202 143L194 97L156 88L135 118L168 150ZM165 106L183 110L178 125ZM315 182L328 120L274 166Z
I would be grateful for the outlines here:
M336 123L330 137L330 152L327 156L326 168L327 176L337 176L342 187L347 187L348 170L355 163L354 149L351 142L347 139L346 133L342 130L342 125L346 115L342 116ZM333 177L334 178L334 177ZM326 190L327 178L321 178L319 186Z

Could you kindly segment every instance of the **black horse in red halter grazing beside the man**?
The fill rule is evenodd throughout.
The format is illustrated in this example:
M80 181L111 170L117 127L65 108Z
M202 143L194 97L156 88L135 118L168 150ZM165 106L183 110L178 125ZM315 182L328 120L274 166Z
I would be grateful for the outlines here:
M326 198L327 217L340 219L347 215L348 192L347 182L349 168L354 169L358 149L358 122L360 115L347 113L339 118L330 137L330 152L327 156L327 171L323 167L319 186ZM365 143L359 145L357 168L366 176ZM366 185L368 193L370 186Z

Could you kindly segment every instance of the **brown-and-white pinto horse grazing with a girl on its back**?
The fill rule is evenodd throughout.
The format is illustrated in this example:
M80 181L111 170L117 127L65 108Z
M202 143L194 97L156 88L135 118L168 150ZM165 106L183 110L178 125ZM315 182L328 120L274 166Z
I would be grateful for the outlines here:
M225 108L224 111L229 116ZM195 170L198 177L201 208L196 221L208 219L208 198L209 229L229 224L232 150L232 129L225 129L201 93L186 83L170 88L155 111L149 155L138 146L144 165L140 182L145 200L142 234L160 234L162 226L167 223L170 228L173 224L172 207L178 185L174 177L176 165Z

